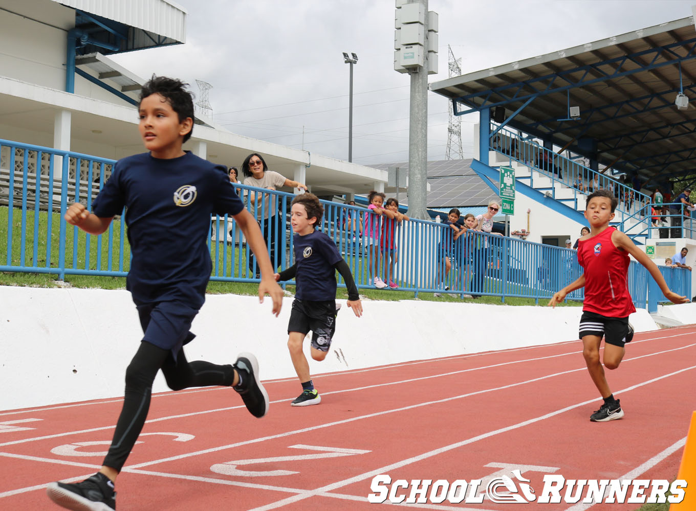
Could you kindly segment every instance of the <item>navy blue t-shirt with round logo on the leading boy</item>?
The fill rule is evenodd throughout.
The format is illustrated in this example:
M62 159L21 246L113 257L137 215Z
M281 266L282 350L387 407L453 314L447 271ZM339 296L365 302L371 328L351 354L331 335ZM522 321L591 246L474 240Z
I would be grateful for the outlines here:
M200 309L212 269L210 216L244 209L227 169L191 152L174 159L128 156L116 162L92 212L111 217L124 206L133 255L126 282L133 301Z

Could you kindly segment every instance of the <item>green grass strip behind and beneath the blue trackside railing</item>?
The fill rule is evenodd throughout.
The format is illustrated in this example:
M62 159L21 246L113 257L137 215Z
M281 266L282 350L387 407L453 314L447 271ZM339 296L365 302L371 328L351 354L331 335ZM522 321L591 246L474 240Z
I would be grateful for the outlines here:
M7 263L7 238L8 238L8 208L0 207L0 264ZM51 222L51 238L50 246L47 241L47 232L49 218ZM10 266L35 266L38 268L47 267L47 259L52 268L58 267L60 259L60 243L58 238L60 223L60 215L58 213L49 213L40 211L38 213L38 224L35 225L35 211L33 209L26 211L24 226L27 232L24 250L22 251L21 233L22 233L22 210L13 209L12 219L12 245L10 253ZM111 267L109 267L109 250L107 244L107 234L102 235L104 240L99 248L97 244L97 236L89 236L85 232L68 225L65 234L65 266L66 268L89 268L90 270L112 270L120 271L119 257L120 244L123 243L124 261L122 263L122 271L127 272L129 269L129 253L130 247L127 238L124 236L121 241L120 220L115 219L111 222L113 229L113 246L111 248ZM86 239L90 238L89 258L86 263ZM77 241L76 241L77 240ZM23 252L23 254L22 254ZM240 253L241 252L241 253ZM225 245L223 243L212 243L211 256L213 258L214 275L220 277L228 277L233 272L235 276L239 276L240 272L244 276L246 271L246 250L239 250L233 245ZM223 268L223 253L226 254L226 265ZM241 257L241 262L238 258ZM22 259L23 258L23 259ZM219 259L219 267L215 268L215 260ZM234 265L231 261L235 261ZM365 265L367 266L367 265ZM367 268L363 268L363 277L367 279ZM357 276L356 276L357 277ZM96 288L96 289L125 289L125 277L106 277L102 275L65 275L65 280L58 279L56 273L25 273L25 272L0 272L0 285L3 286L33 286L33 287L64 287L66 284L77 288ZM495 291L493 279L489 279L487 284L491 291ZM287 291L294 292L294 286L287 286ZM523 289L516 290L523 293ZM256 295L258 293L258 284L253 282L218 282L211 281L207 286L207 292L212 294L232 293L237 295ZM361 295L370 300L427 300L435 302L475 302L501 305L546 305L548 300L539 300L537 304L533 298L509 298L506 297L504 302L498 296L482 296L478 299L465 298L462 300L457 294L442 293L441 297L434 296L433 293L414 293L413 291L399 290L381 290L381 289L360 289ZM347 291L338 289L337 298L347 299ZM569 301L562 304L561 307L578 306L581 302Z

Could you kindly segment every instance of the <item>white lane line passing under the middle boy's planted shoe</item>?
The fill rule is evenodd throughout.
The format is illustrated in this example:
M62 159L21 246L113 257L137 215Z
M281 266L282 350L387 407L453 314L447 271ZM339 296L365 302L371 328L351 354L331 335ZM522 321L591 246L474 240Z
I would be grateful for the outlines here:
M629 362L631 360L637 360L641 359L644 357L653 357L655 355L663 355L664 353L672 352L672 351L677 351L677 350L683 350L686 348L691 348L693 346L696 346L696 343L688 344L686 346L680 346L679 348L671 348L670 350L663 350L663 351L658 351L658 352L653 352L653 353L648 353L647 355L639 355L638 357L633 357L629 359L624 359L623 363L625 364L626 362ZM443 376L451 376L451 375L456 375L459 373L468 373L471 371L482 371L483 369L489 369L489 368L496 368L496 367L501 367L501 366L508 366L512 364L523 364L525 362L539 362L539 360L545 360L545 359L553 359L557 357L564 357L566 355L576 355L580 353L580 351L576 352L568 352L568 353L560 353L557 355L548 355L546 357L537 357L533 359L524 359L524 360L513 360L510 362L501 362L500 364L493 364L491 366L480 366L480 367L474 367L474 368L468 368L468 369L461 369L460 371L452 371L449 373L441 373L439 375L430 375L430 376L423 376L421 378L410 378L407 380L399 380L396 382L386 382L386 383L379 383L379 384L374 384L374 385L367 385L365 387L354 387L353 389L344 389L340 391L331 391L331 392L324 392L324 395L329 395L329 394L343 394L345 392L354 392L354 391L361 391L361 390L367 390L367 389L374 389L377 387L388 387L390 385L398 385L398 384L404 384L404 383L412 383L412 382L417 382L420 380L429 380L432 378L439 378ZM585 367L579 368L579 369L574 369L573 371L583 371L583 369L586 369ZM571 371L572 372L572 371ZM557 373L557 374L564 374L564 373ZM543 377L546 378L546 377ZM530 380L530 381L536 381L536 380ZM498 389L502 389L506 387L499 387ZM498 390L498 389L492 389L492 390ZM227 389L229 391L229 389ZM283 399L278 399L271 401L271 404L274 403L285 403L287 400L290 400L290 398L283 398ZM232 409L237 409L237 408L243 408L244 405L235 405L232 407L223 407L223 408L215 408L215 409L208 409L208 410L203 410L200 412L191 412L188 414L177 414L177 415L170 415L166 417L159 417L159 419L149 419L148 421L145 421L145 424L149 423L155 423L155 422L160 422L160 421L168 421L171 419L183 419L184 417L191 417L191 416L196 416L196 415L203 415L203 414L210 414L210 413L215 413L215 412L226 412L228 410ZM52 439L52 438L59 438L59 437L67 437L70 435L79 435L82 433L90 433L90 432L95 432L95 431L104 431L104 430L110 430L116 428L116 425L109 425L109 426L102 426L100 428L90 428L87 430L77 430L77 431L68 431L68 432L63 432L63 433L56 433L55 435L45 435L42 437L31 437L31 438L24 438L24 439L19 439L19 440L14 440L14 441L7 441L4 443L0 444L0 447L3 446L10 446L10 445L17 445L17 444L25 444L27 442L31 441L39 441L39 440L46 440L46 439Z

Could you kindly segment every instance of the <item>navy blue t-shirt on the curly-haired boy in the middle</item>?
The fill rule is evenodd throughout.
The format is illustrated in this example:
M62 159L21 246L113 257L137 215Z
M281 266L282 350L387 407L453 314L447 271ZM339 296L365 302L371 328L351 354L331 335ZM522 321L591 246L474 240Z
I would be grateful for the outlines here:
M336 299L336 270L343 258L338 248L321 231L292 238L295 252L295 296L300 300L326 301Z

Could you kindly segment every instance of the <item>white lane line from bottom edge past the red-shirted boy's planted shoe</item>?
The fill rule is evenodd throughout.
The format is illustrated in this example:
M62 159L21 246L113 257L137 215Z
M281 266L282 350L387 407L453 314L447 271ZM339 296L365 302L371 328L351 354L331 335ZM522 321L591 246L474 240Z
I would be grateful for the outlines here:
M665 378L670 378L671 376L677 375L677 374L679 374L679 373L683 373L683 372L685 372L685 371L690 371L691 369L695 369L695 368L696 368L696 366L690 366L690 367L687 367L687 368L683 368L683 369L680 369L679 371L674 371L674 373L669 373L669 374L666 374L666 375L663 375L663 376L658 376L657 378L652 378L651 380L647 380L647 381L645 381L645 382L641 382L641 383L638 383L638 384L635 384L635 385L631 385L631 387L626 387L626 389L622 389L622 390L620 390L619 392L620 392L620 393L624 393L624 392L632 391L632 390L634 390L634 389L638 389L639 387L643 387L644 385L651 384L651 383L657 382L657 381L659 381L659 380L663 380L663 379L665 379ZM405 467L406 465L413 464L413 463L416 463L416 462L420 462L420 461L422 461L422 460L426 460L426 459L429 458L429 457L433 457L433 456L436 456L436 455L439 455L439 454L442 454L442 453L446 453L446 452L448 452L448 451L452 451L452 449L456 449L456 448L459 448L459 447L461 447L461 446L465 446L465 445L468 445L468 444L473 444L474 442L479 441L479 440L487 439L487 438L493 437L493 436L495 436L495 435L500 435L501 433L505 433L505 432L508 432L508 431L516 430L516 429L519 429L519 428L523 428L523 427L526 426L526 425L530 425L530 424L533 424L533 423L539 422L539 421L544 421L545 419L550 419L550 418L553 417L553 416L556 416L556 415L558 415L558 414L562 414L562 413L564 413L564 412L568 412L568 411L571 410L571 409L575 409L575 408L578 408L578 407L581 407L581 406L589 405L590 403L594 403L595 401L596 401L596 398L595 398L595 399L592 399L592 400L585 401L585 402L583 402L583 403L577 403L577 404L571 405L571 406L569 406L569 407L565 407L565 408L562 408L562 409L558 409L558 410L555 410L554 412L550 412L550 413L548 413L548 414L544 414L544 415L535 417L535 419L529 419L528 421L523 421L523 422L520 422L520 423L516 423L516 424L514 424L514 425L509 425L509 426L507 426L506 428L500 428L500 429L498 429L498 430L491 431L491 432L488 432L488 433L484 433L484 434L482 434L482 435L477 435L476 437L472 437L472 438L470 438L470 439L466 439L466 440L463 440L463 441L459 441L459 442L457 442L457 443L455 443L455 444L450 444L450 445L448 445L448 446L444 446L444 447L441 447L441 448L434 449L433 451L428 451L427 453L422 453L422 454L417 455L417 456L409 457L409 458L407 458L406 460L402 460L402 461L400 461L400 462L395 462L395 463L392 463L392 464L388 464L388 465L386 465L386 466L384 466L384 467L380 467L379 469L374 469L374 470L371 470L371 471L369 471L369 472L361 473L361 474L358 475L358 476L354 476L354 477L351 477L351 478L348 478L348 479L344 479L344 480L340 480L340 481L337 481L337 482L333 482L333 483L331 483L330 485L325 485L325 486L323 486L323 487L317 488L317 489L312 490L311 492L307 492L306 494L303 494L303 495L301 495L301 496L300 496L300 495L295 495L295 496L283 498L283 499L280 500L280 501L276 501L276 502L273 502L273 503L269 503L269 504L267 504L267 505L262 505L262 506L260 506L260 507L258 507L258 508L253 508L253 509L248 510L248 511L269 511L269 510L271 510L271 509L281 508L281 507L283 507L284 505L288 505L288 504L292 504L292 503L295 503L295 502L299 502L299 501L301 501L301 500L303 500L303 499L305 499L305 498L310 498L311 496L318 495L319 493L322 493L322 492L331 492L333 489L338 489L338 488L341 488L341 487L345 487L345 486L348 486L348 485L352 485L354 482L361 482L361 481L363 481L363 480L373 478L374 476L379 476L379 474L382 474L382 473L389 473L390 471L393 471L393 470L395 470L395 469L400 469L400 468L402 468L402 467ZM677 442L677 444L678 444L678 443L679 443L679 442ZM677 444L674 444L674 445L677 445ZM367 496L365 496L365 498L367 498Z

